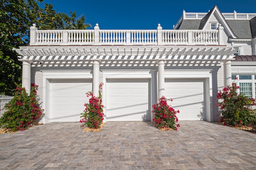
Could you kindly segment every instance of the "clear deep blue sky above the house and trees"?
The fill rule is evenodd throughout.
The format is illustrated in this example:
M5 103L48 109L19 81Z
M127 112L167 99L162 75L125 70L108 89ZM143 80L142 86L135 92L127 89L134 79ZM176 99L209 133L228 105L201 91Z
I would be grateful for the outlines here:
M82 14L100 29L172 29L183 10L208 12L215 5L223 13L256 13L256 0L44 0L56 12ZM93 28L89 28L93 29Z

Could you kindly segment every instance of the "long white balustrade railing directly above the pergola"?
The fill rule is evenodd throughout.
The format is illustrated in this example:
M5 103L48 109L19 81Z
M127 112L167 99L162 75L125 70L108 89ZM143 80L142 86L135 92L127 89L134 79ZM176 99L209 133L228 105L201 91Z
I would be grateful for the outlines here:
M30 45L223 45L217 30L38 30L30 27Z

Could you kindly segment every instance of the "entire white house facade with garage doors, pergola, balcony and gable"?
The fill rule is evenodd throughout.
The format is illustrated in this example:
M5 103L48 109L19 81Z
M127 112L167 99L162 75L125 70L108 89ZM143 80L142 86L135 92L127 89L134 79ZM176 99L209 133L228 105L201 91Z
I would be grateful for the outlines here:
M79 121L86 92L98 96L100 82L104 121L152 121L152 104L162 96L173 99L169 104L180 110L179 120L216 121L216 94L235 75L247 83L245 91L251 83L252 96L256 93L256 14L239 15L252 23L251 36L240 38L217 6L208 13L184 12L169 30L160 24L156 30L101 30L98 24L93 30L38 30L33 25L30 45L15 49L23 62L22 86L28 91L30 83L39 86L42 123Z

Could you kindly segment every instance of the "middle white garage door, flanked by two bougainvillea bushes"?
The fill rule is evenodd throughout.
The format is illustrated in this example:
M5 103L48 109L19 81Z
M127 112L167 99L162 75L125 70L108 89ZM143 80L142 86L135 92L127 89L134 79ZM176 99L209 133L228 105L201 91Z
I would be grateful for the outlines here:
M107 121L150 120L149 80L108 79L106 88Z

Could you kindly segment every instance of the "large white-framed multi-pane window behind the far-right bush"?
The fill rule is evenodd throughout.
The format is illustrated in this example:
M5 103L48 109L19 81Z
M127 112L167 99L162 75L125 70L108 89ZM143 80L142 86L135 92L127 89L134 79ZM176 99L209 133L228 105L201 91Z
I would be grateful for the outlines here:
M256 75L240 74L232 75L232 80L240 87L237 92L255 98L256 96Z

